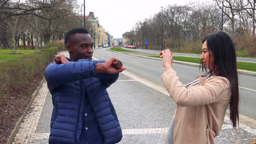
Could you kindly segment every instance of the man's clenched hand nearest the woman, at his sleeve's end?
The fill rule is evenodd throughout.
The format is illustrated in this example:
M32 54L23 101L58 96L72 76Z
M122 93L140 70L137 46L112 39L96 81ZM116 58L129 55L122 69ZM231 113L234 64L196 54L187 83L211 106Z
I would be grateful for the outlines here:
M95 68L95 72L115 74L118 72L122 72L126 69L125 67L122 67L122 66L123 64L121 61L115 58L110 58L104 63L98 63Z

